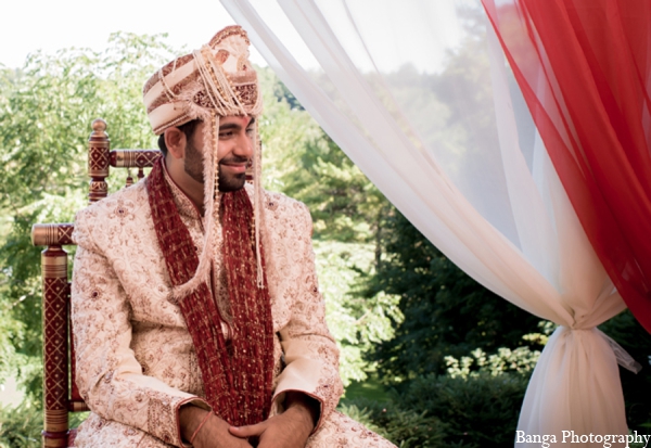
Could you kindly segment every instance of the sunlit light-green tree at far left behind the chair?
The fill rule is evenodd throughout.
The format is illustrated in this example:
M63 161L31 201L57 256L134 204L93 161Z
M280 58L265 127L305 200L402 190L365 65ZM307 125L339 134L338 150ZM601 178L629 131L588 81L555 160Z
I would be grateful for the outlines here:
M95 117L114 148L151 148L141 87L171 57L159 36L115 34L102 53L36 53L0 71L0 377L17 374L40 404L39 252L35 222L65 222L86 203L86 139ZM118 188L117 182L114 189Z

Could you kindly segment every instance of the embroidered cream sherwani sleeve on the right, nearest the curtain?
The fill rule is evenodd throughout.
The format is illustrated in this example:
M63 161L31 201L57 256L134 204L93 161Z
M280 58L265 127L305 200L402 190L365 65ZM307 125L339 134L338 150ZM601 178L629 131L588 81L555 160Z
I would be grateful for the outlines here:
M294 278L288 294L293 296L293 304L290 320L280 330L285 368L278 377L273 399L281 406L284 394L290 391L317 399L321 412L316 432L336 407L343 385L339 348L326 324L326 306L317 282L311 218L303 204L297 218L289 256Z

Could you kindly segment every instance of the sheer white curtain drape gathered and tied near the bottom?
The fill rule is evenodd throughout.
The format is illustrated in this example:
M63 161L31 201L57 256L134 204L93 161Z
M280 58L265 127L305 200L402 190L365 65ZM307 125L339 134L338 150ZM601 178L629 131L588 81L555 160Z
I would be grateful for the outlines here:
M596 329L625 306L480 1L221 2L305 108L436 247L486 287L560 325L532 376L519 430L557 438L562 431L627 434L614 343Z

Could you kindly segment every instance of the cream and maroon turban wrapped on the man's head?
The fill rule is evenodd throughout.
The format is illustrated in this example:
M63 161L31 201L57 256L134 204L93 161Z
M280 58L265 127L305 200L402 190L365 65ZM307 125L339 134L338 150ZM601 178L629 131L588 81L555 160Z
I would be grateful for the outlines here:
M144 106L156 136L192 119L261 112L257 75L248 62L248 37L229 26L201 50L178 57L144 85Z

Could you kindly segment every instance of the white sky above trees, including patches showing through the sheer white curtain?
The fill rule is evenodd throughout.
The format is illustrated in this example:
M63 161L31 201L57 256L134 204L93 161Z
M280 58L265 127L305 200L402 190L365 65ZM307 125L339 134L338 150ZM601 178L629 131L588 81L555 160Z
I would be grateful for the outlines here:
M0 64L16 68L23 66L27 54L37 50L52 54L69 47L103 50L108 36L115 31L136 34L168 34L167 42L176 49L190 51L201 48L215 33L234 24L219 0L190 0L187 2L164 2L153 0L111 0L105 3L86 0L5 0L0 15ZM165 5L167 3L168 5ZM265 18L271 17L273 30L285 43L296 60L306 68L317 65L316 60L301 41L282 10L272 0L252 0ZM461 39L460 27L455 18L455 1L420 0L317 0L326 16L345 16L342 9L349 7L349 14L363 17L368 11L376 12L373 21L358 21L358 29L340 24L337 36L350 52L353 60L362 69L370 69L373 63L363 56L365 49L356 39L356 33L372 38L378 68L392 71L407 62L414 62L426 72L437 72L442 67L446 48L455 47ZM382 8L378 8L382 4ZM382 11L382 13L379 13ZM396 48L395 37L408 30L419 30L437 46L429 46L423 52L420 46ZM387 50L387 51L385 51ZM259 52L251 48L251 61L267 65Z

